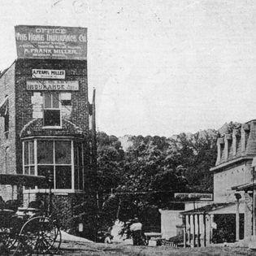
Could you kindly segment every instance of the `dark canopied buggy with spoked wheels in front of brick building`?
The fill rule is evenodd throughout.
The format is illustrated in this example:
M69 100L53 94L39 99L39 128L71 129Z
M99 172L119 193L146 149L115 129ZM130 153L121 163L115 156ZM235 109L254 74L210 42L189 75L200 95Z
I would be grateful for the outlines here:
M33 187L50 184L45 176L0 174L0 184ZM1 197L2 198L2 197ZM48 202L0 200L0 255L54 254L61 244L58 219L52 215L51 189Z

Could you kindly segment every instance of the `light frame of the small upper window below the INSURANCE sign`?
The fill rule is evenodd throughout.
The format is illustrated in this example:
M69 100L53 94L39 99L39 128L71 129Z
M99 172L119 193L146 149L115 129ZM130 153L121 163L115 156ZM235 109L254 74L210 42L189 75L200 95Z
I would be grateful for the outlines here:
M59 104L59 107L54 107L54 93L55 95L58 95L57 102ZM50 107L46 107L46 94L50 94ZM63 121L62 121L62 103L61 103L61 96L59 92L44 92L42 93L43 96L43 128L62 128L63 127ZM45 124L45 111L59 111L59 125L46 125Z

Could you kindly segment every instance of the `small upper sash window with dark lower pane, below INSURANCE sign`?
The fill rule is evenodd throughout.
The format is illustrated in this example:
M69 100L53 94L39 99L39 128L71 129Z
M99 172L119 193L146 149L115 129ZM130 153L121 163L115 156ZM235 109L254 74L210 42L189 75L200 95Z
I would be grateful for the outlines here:
M44 93L44 126L61 126L59 93Z

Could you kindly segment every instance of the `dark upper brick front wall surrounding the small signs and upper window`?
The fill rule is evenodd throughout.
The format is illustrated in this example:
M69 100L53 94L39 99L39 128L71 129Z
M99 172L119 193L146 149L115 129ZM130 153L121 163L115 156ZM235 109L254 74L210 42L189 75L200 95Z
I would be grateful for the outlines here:
M87 62L79 60L17 60L15 70L15 101L16 101L16 149L17 166L22 167L22 144L20 131L24 125L33 119L33 106L31 97L33 91L26 89L26 80L32 79L32 69L60 69L65 70L66 80L78 80L79 90L72 91L72 123L83 132L89 132L89 103L87 86ZM63 131L54 130L51 135L61 135ZM41 136L49 135L49 131L41 130ZM20 168L19 168L20 170ZM22 170L20 170L22 171Z

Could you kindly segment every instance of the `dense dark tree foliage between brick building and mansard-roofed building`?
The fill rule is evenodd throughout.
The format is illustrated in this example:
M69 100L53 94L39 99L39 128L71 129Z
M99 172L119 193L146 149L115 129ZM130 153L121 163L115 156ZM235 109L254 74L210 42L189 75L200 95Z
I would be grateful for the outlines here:
M98 132L101 222L143 218L152 209L167 207L177 192L212 192L217 136L212 130L171 138L133 136L124 152L117 137Z

